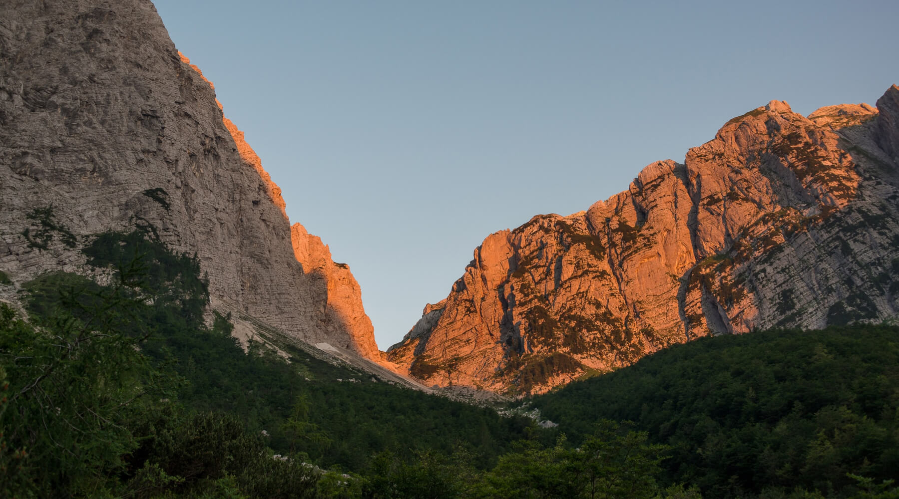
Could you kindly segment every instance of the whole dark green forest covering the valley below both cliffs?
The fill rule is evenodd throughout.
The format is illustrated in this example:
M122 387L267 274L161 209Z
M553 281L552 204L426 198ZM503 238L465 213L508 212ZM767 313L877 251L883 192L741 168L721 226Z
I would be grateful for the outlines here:
M152 227L80 248L0 303L0 497L899 497L893 326L699 339L503 407L542 428L245 351Z

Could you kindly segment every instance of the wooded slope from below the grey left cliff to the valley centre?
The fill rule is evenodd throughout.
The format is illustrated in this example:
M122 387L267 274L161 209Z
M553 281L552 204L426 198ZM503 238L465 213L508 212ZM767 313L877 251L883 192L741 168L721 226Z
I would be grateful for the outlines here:
M458 443L484 468L533 425L374 381L296 346L281 346L290 363L252 339L245 352L228 316L204 324L197 259L169 250L152 227L98 234L83 251L98 281L49 273L23 285L29 322L4 309L0 368L10 390L35 379L41 388L3 407L4 493L357 497L364 477L304 461L362 471L386 449L406 462ZM68 434L94 413L93 425ZM51 417L49 431L38 430Z

